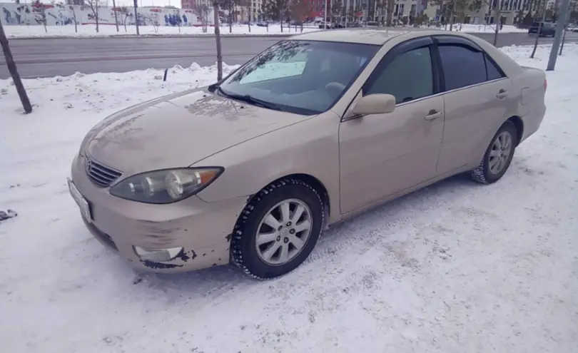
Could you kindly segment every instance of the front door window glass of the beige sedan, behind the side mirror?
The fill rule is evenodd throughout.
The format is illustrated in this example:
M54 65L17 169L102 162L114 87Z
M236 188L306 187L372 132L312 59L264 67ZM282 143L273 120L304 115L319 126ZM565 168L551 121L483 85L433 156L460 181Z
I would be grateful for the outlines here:
M379 66L377 68L379 70ZM400 54L382 72L377 73L363 95L385 93L395 96L395 102L405 103L431 96L434 91L430 48L417 48Z

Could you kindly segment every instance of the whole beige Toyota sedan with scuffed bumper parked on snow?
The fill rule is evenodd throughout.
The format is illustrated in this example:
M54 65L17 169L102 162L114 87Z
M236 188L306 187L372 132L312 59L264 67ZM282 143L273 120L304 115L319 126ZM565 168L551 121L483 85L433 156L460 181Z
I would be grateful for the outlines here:
M458 173L500 180L542 123L546 88L544 71L468 34L300 34L98 123L70 193L140 270L233 262L277 277L328 225Z

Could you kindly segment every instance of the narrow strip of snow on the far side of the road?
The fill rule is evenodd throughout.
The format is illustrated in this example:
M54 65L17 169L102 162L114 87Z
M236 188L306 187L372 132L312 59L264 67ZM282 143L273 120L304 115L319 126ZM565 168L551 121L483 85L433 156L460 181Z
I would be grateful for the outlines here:
M400 28L400 27L398 27ZM430 27L435 29L435 27ZM445 29L442 27L441 29ZM447 30L450 30L450 26L447 26ZM453 27L454 31L460 30L460 25L455 25ZM116 26L106 25L100 26L98 33L96 33L96 26L92 24L86 24L84 26L78 26L78 32L74 31L74 26L47 26L46 31L44 31L44 26L4 26L4 31L6 31L6 36L9 38L36 38L36 37L95 37L95 36L136 36L135 26L124 26L118 27L118 32L116 31ZM303 32L319 31L318 26L304 26ZM462 32L493 32L495 31L494 26L483 26L475 24L462 24ZM212 35L214 34L214 29L209 27L206 33L203 33L201 27L171 27L171 26L159 26L154 28L153 26L141 26L139 27L139 32L141 36L178 36L178 35ZM512 33L512 32L527 32L527 29L517 29L515 26L504 26L500 33ZM220 33L223 35L230 34L258 34L258 35L284 35L284 34L298 34L300 28L292 26L290 29L284 25L283 32L281 32L281 26L279 24L272 24L269 29L266 27L251 26L249 32L249 26L246 25L235 25L232 31L229 31L229 26L221 26Z

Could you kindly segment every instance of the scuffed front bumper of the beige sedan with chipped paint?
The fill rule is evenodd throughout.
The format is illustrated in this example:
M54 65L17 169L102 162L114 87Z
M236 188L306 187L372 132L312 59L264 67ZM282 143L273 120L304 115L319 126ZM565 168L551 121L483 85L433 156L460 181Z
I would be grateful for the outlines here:
M71 179L90 205L91 220L83 217L88 230L137 269L184 272L229 262L231 232L246 198L206 203L192 196L169 205L123 200L94 185L79 158L73 161ZM135 246L183 250L172 260L155 262L139 257Z

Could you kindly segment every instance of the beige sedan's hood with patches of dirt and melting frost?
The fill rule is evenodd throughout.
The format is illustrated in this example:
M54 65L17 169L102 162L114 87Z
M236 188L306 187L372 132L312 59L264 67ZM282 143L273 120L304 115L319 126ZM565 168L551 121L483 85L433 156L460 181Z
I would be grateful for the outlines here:
M125 175L183 168L303 120L297 114L250 106L201 88L109 116L88 132L80 152Z

